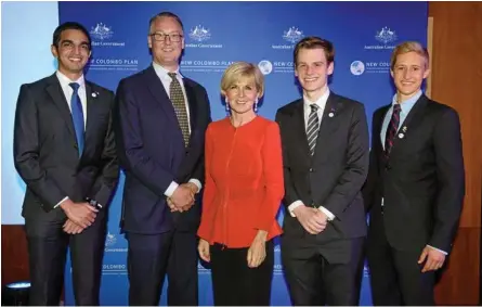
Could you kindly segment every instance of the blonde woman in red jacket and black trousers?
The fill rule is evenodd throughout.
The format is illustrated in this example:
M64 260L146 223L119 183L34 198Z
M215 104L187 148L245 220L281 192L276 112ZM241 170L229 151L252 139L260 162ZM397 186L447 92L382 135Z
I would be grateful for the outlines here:
M258 66L232 64L221 80L230 116L206 131L198 250L211 263L214 305L270 305L284 184L279 128L257 115L263 91Z

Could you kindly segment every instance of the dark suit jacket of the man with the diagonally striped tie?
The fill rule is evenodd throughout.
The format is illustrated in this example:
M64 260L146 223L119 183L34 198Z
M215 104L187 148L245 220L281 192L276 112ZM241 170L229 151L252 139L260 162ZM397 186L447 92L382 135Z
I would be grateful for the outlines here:
M331 116L333 115L333 116ZM285 242L305 245L366 234L361 188L368 172L368 127L363 104L331 92L323 114L315 154L310 155L303 100L278 110L285 178L284 204L301 200L324 206L336 219L309 234L286 210Z

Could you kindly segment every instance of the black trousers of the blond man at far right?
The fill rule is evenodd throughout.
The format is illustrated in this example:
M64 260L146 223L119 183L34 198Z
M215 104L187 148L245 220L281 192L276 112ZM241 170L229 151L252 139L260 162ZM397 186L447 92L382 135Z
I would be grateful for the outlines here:
M421 272L421 250L398 251L387 241L382 225L368 232L367 258L375 306L433 306L434 271Z

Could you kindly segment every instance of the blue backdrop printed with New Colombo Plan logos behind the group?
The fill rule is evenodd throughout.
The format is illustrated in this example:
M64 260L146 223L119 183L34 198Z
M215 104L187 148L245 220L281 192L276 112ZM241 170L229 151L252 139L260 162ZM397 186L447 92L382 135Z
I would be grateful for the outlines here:
M391 102L390 54L404 40L427 41L426 2L60 2L60 21L77 21L90 30L93 56L87 77L116 90L119 80L151 64L149 18L171 11L184 23L186 48L181 73L206 87L213 119L225 116L220 80L235 61L257 63L265 75L259 113L298 99L292 66L295 43L321 36L335 44L333 91L365 104L368 120ZM409 18L407 17L409 16ZM119 234L123 177L110 205L103 264L101 304L127 305L127 242ZM279 214L279 221L283 213ZM69 264L68 264L69 267ZM365 268L362 305L372 305ZM166 293L164 291L164 293ZM74 305L70 270L66 305ZM166 295L161 297L166 305ZM199 265L199 304L212 305L209 270ZM272 305L290 305L276 246Z

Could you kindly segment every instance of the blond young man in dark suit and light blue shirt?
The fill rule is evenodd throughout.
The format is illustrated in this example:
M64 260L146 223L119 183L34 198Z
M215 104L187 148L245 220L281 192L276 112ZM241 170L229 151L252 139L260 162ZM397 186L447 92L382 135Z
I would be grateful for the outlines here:
M392 103L375 111L368 180L368 265L375 305L433 305L434 271L450 253L465 194L457 112L428 99L429 54L418 42L391 57Z

